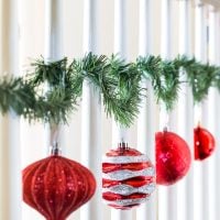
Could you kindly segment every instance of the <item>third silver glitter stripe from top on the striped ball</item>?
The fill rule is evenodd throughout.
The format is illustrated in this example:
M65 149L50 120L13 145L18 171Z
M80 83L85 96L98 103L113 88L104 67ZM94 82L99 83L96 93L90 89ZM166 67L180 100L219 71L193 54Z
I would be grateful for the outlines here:
M112 186L109 188L102 188L102 193L113 193L113 194L119 194L121 196L129 196L131 194L152 194L154 191L154 189L156 188L156 184L152 183L148 185L144 185L142 187L132 187L129 185L117 185L117 186Z

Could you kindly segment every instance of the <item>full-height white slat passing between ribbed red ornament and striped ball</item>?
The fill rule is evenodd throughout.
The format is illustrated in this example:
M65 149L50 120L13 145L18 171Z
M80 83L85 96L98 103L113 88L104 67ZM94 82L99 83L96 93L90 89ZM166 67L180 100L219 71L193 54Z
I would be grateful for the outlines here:
M84 1L84 53L97 53L97 0ZM101 97L85 80L81 101L81 163L96 176L97 191L80 209L80 219L101 220Z

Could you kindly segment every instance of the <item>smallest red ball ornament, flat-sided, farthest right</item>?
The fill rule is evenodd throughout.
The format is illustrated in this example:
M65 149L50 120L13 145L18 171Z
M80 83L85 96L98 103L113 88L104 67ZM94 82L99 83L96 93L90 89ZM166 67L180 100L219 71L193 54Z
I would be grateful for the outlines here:
M195 160L198 161L209 157L216 148L213 135L200 125L194 129L194 148Z

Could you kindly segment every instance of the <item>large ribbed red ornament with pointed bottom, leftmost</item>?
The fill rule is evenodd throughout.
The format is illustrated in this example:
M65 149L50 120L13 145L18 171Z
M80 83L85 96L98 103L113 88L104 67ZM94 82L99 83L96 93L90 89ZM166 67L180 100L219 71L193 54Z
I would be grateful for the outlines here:
M65 220L92 197L95 189L90 170L58 155L57 148L23 170L23 200L47 220Z

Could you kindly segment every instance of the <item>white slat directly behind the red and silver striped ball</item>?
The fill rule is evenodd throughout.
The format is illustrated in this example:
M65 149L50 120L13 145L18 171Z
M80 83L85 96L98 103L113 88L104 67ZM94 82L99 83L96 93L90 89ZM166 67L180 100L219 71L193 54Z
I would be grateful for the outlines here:
M127 57L127 0L114 0L114 53ZM128 131L120 124L112 122L112 143L128 142ZM132 210L111 210L112 220L131 220Z

